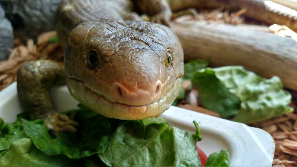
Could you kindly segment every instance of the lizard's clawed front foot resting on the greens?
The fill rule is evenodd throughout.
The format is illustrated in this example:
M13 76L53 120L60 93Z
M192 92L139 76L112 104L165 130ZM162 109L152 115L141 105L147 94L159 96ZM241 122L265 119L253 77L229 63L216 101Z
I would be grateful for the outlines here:
M67 115L53 112L45 119L45 125L51 132L70 132L76 133L79 124L71 120ZM55 136L55 135L54 135Z

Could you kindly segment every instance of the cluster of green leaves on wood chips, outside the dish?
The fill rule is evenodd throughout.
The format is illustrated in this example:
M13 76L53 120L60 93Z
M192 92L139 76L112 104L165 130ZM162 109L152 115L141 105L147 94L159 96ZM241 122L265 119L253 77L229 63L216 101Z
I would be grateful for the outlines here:
M221 117L249 124L293 111L291 95L279 77L265 79L242 66L205 68L207 63L199 59L185 63L184 79L198 86L203 106Z

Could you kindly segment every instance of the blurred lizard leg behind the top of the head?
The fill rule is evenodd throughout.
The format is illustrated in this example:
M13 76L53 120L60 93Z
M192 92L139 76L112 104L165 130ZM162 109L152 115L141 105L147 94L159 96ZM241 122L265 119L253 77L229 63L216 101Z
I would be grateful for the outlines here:
M134 0L134 4L150 17L152 23L169 26L172 11L167 0Z

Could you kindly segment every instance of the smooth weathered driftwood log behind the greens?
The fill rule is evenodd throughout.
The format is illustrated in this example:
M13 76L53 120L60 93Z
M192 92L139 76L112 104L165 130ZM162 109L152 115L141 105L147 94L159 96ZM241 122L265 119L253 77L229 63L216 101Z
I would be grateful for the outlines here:
M219 23L173 22L171 28L184 48L185 61L241 65L262 77L276 75L286 88L297 90L297 42L290 37Z

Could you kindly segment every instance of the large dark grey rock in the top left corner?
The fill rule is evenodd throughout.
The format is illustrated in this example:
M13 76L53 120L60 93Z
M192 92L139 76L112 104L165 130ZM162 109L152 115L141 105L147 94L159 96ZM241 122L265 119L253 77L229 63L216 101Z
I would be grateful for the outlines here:
M36 40L42 32L55 29L56 9L61 0L2 0L14 28Z

